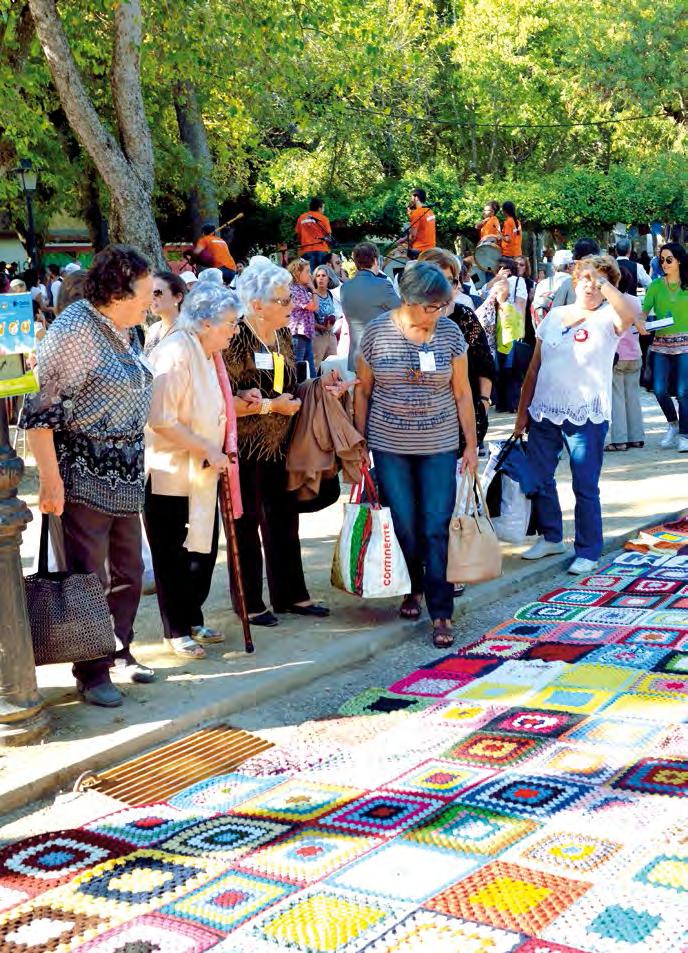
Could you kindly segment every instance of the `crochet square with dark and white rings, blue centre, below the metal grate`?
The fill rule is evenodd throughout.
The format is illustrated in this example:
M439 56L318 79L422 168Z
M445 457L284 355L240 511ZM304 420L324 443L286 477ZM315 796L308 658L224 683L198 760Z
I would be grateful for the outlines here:
M232 860L275 840L288 831L288 824L249 817L223 816L199 821L164 841L160 847L185 857L212 856Z

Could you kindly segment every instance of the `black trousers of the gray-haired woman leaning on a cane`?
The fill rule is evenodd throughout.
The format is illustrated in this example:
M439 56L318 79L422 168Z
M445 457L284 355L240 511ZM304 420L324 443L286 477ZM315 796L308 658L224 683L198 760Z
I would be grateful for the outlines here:
M162 496L146 485L143 520L153 557L155 588L166 639L191 635L191 626L203 625L203 603L208 598L217 560L218 512L215 507L209 553L184 548L188 532L188 496Z

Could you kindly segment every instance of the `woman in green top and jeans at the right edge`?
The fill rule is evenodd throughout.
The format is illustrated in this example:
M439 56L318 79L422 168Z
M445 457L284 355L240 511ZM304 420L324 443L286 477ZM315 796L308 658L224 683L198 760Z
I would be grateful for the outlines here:
M659 250L659 265L664 276L648 286L642 313L643 322L651 311L667 322L656 329L650 347L652 390L667 419L659 445L688 453L688 254L678 242L667 242ZM643 333L643 325L638 328ZM678 399L678 414L672 394Z

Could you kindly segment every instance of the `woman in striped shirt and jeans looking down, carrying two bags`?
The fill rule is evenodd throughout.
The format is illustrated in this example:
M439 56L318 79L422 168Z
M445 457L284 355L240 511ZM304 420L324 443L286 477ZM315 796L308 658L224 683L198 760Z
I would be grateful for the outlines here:
M447 582L449 522L456 498L456 463L475 473L478 449L467 345L442 313L453 288L432 262L409 263L399 281L400 307L374 318L361 339L354 421L373 451L380 494L411 576L401 604L417 619L425 601L433 643L454 641L454 587Z

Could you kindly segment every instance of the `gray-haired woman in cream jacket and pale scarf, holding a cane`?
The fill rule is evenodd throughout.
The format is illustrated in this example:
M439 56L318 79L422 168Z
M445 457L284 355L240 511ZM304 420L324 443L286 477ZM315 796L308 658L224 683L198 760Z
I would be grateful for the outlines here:
M217 558L218 478L232 466L224 452L227 407L214 355L236 333L240 310L233 291L198 282L173 330L149 356L155 380L144 521L165 642L187 659L204 658L204 645L224 639L204 624L202 608Z

